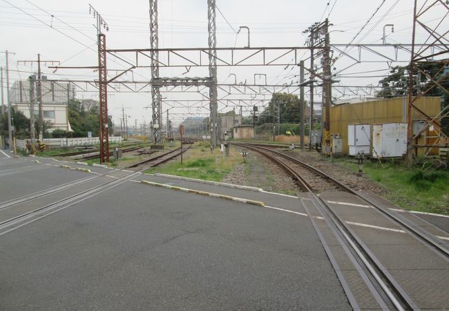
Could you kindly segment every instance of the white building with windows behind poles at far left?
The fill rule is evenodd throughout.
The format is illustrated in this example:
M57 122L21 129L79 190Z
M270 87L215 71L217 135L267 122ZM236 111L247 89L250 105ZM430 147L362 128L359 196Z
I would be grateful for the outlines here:
M51 128L48 131L51 133L55 129L64 131L71 131L70 123L68 122L68 101L75 96L75 86L70 83L60 83L47 81L42 79L42 110L44 113L44 121L51 122ZM37 97L36 84L32 87L31 80L16 81L10 88L10 102L11 106L16 111L21 111L26 117L30 117L31 100L33 96ZM34 113L35 122L39 120L39 103L35 102Z

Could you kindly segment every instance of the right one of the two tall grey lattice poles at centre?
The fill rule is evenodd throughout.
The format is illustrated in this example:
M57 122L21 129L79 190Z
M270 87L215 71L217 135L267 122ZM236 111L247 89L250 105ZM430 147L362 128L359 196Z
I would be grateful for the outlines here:
M207 30L209 31L209 77L211 78L211 86L209 86L210 98L210 131L211 131L211 148L217 144L217 40L216 40L216 0L207 0Z

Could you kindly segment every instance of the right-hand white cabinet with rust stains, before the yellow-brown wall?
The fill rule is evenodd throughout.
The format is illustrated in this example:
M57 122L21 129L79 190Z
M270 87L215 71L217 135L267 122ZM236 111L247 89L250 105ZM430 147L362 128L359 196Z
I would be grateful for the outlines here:
M384 123L372 126L372 156L401 157L407 153L407 123Z

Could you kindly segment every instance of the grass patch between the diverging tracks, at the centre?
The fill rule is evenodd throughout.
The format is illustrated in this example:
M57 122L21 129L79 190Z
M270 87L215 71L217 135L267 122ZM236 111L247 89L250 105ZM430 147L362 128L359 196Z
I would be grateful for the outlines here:
M207 150L208 155L204 155L203 149L204 146L195 143L187 153L184 153L182 164L180 158L178 158L176 162L147 169L144 173L165 173L202 180L221 181L241 162L239 157L233 155L233 153L237 152L233 151L233 149L231 149L231 154L226 158L222 158L220 149L214 150L212 154ZM186 168L195 169L189 170Z

